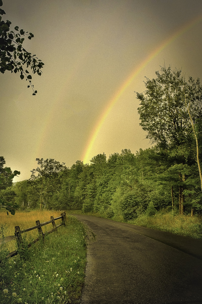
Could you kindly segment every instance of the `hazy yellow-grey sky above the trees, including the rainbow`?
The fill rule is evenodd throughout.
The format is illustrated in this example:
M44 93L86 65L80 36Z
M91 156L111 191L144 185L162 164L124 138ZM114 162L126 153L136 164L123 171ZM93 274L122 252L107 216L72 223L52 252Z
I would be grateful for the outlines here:
M4 0L3 19L34 34L23 46L44 62L32 76L0 75L0 156L30 178L36 158L71 167L151 147L135 92L161 66L202 78L201 0Z

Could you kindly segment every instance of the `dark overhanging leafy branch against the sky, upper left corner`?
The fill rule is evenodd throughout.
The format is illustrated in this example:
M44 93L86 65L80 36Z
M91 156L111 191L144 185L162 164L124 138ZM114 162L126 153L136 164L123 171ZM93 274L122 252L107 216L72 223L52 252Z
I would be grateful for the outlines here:
M3 5L2 0L0 0L0 6ZM28 67L31 68L32 73L37 73L41 76L41 68L44 63L41 59L38 59L35 54L29 53L22 47L25 40L24 37L28 36L28 39L34 37L32 33L25 32L23 29L19 30L19 26L15 26L15 31L10 30L11 21L2 20L2 16L5 15L5 11L0 9L0 72L2 74L5 71L11 71L11 73L20 72L20 78L26 78L28 81L28 88L31 86L33 90L32 95L36 95L37 91L34 89L34 85L31 83L31 75L27 70ZM26 66L26 69L23 66Z

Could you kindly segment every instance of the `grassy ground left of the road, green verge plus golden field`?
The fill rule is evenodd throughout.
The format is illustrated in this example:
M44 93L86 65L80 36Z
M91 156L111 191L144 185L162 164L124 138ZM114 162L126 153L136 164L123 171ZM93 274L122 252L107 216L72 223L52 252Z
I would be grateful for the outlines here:
M5 219L4 214L0 212L1 238L13 235L15 225L31 227L35 226L36 219L45 222L49 220L49 215L60 216L59 212L39 214L17 211L15 216L6 215ZM15 247L15 241L0 245L0 303L77 303L81 296L86 264L83 224L75 217L67 216L66 227L59 227L57 233L46 235L44 242L38 241L30 248L27 245L35 236L26 233L22 237L23 248L19 249L15 257L6 258L8 252L13 250L10 243Z

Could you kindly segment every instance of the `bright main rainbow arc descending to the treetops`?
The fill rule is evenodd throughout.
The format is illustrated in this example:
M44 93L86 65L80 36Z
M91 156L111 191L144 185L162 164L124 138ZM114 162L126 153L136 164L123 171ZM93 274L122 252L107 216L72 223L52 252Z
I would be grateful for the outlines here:
M165 39L161 45L159 45L157 48L155 48L150 55L148 55L144 61L142 61L133 72L129 75L129 77L124 81L124 83L121 85L121 87L118 89L118 92L114 94L114 96L109 100L107 107L105 108L104 112L101 114L100 118L98 119L98 123L95 125L94 130L91 133L91 136L88 139L87 145L83 152L83 162L84 164L88 163L90 153L93 147L93 144L98 136L98 133L111 112L111 109L114 107L120 96L123 94L123 92L126 90L126 88L131 84L131 82L134 80L135 77L147 66L147 64L154 59L162 50L164 50L165 47L167 47L170 43L172 43L174 40L176 40L180 35L184 34L187 30L189 30L191 27L195 26L197 23L201 22L202 20L202 14L192 19L190 22L180 26L180 28L177 29L177 31L170 35L169 38Z

